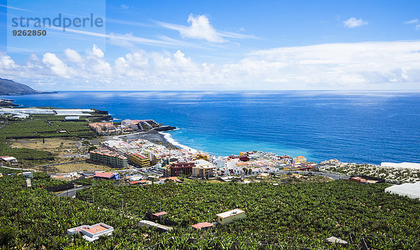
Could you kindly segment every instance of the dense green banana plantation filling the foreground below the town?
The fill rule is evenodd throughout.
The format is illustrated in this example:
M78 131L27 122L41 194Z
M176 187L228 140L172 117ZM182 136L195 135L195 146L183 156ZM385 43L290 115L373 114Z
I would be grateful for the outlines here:
M38 188L49 182L38 178L32 189L19 176L0 179L0 226L17 235L5 248L144 249L159 244L160 249L326 249L325 238L349 241L352 233L355 244L347 249L360 249L362 235L371 237L373 249L420 249L420 202L384 193L388 184L193 181L116 186L94 181L93 192L86 189L71 199ZM169 233L137 226L145 211L159 210L158 202L179 223ZM188 229L207 221L209 214L214 221L215 214L234 208L244 209L247 218L207 231ZM99 222L113 226L113 236L92 243L66 236L68 228Z

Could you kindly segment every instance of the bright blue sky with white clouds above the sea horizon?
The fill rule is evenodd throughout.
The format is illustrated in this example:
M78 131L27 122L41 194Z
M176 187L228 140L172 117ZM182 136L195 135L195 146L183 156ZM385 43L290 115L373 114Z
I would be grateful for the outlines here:
M45 6L48 6L46 8ZM0 1L0 77L39 90L419 90L420 1ZM11 36L13 17L103 27Z

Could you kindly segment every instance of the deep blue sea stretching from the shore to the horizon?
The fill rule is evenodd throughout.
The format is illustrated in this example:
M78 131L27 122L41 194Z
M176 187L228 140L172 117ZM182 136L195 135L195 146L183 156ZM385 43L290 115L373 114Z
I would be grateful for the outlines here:
M96 108L179 127L179 143L215 155L270 151L320 162L420 162L420 93L58 92L0 97L21 106Z

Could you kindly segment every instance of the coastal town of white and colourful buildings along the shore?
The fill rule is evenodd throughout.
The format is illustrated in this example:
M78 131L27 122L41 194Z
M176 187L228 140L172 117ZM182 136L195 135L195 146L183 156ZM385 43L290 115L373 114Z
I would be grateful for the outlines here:
M7 101L13 104L12 100ZM303 155L292 157L262 151L241 151L227 156L211 155L187 146L174 146L169 142L172 140L171 135L165 132L176 127L162 125L151 119L125 119L115 122L107 111L96 109L17 109L8 106L0 108L0 116L6 120L18 121L31 120L36 116L54 116L61 117L67 124L83 122L94 132L95 137L81 138L80 145L75 145L77 150L74 153L77 154L66 154L68 155L66 157L71 157L70 163L82 160L87 164L103 165L108 167L111 173L104 175L104 171L98 169L97 174L102 176L101 178L113 176L112 179L128 179L131 184L146 185L153 180L177 176L207 181L231 181L235 178L246 181L246 176L261 178L285 173L294 174L294 177L298 178L302 177L302 174L310 173L333 180L351 179L353 176L361 178L360 176L364 175L365 179L369 179L366 176L371 176L370 179L383 179L393 183L420 181L420 167L415 163L384 162L381 166L377 166L339 162L337 159L311 162ZM6 120L1 123L5 123ZM50 122L47 123L50 125ZM62 129L55 132L58 133L55 136L69 133ZM66 150L71 152L70 149ZM0 155L0 158L4 167L25 168L14 155ZM66 162L58 164L65 165ZM407 165L409 167L405 167ZM352 168L358 168L360 171L352 171ZM112 172L113 169L118 172ZM394 174L387 174L387 169ZM398 169L402 174L398 174ZM53 178L67 180L86 176L83 171L66 173L52 171L49 174ZM362 182L363 180L369 182L361 179Z

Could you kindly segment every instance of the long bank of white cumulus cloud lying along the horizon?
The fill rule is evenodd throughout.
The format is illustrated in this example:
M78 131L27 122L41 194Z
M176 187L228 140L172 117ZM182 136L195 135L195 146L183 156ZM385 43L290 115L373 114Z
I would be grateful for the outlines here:
M138 50L107 62L97 46L83 54L31 55L16 64L0 53L0 74L87 82L84 89L420 89L420 41L329 43L255 50L229 63L198 63L181 50ZM77 70L75 70L77 69ZM92 84L91 84L92 83ZM384 87L384 88L385 88ZM214 87L216 90L219 87ZM83 88L82 88L83 89Z

